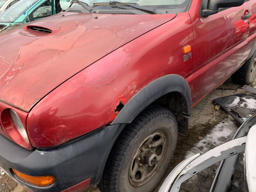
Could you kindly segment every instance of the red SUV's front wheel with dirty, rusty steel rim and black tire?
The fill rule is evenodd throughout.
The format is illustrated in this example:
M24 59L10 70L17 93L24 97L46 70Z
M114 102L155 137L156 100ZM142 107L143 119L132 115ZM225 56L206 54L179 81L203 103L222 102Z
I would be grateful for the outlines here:
M152 192L170 163L177 137L177 121L170 110L162 106L144 110L116 140L100 190Z

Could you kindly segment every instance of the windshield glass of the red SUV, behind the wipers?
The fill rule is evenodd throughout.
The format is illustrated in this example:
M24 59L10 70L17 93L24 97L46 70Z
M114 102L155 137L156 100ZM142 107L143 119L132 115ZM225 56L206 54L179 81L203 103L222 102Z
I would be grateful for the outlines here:
M189 0L118 0L124 3L136 3L140 6L153 6L154 8L185 8ZM110 2L106 0L83 0L89 6L94 3Z

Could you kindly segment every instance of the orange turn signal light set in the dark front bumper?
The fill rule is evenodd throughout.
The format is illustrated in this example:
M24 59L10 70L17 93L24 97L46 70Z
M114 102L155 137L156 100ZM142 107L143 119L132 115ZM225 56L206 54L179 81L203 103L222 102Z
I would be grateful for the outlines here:
M12 172L14 172L14 174L16 174L18 178L36 186L49 186L55 181L55 178L53 176L30 176L21 173L15 169L12 169Z

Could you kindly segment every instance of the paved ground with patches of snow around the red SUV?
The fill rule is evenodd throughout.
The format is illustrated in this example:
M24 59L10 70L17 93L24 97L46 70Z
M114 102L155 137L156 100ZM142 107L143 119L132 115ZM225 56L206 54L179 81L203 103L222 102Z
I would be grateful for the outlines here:
M256 83L252 84L255 86ZM158 192L162 182L170 171L184 158L196 153L206 152L209 149L229 141L238 128L235 120L222 110L214 110L212 100L231 94L244 93L241 88L237 90L214 90L206 96L193 109L190 117L190 130L187 136L179 136L174 157L170 166L167 168L164 178L156 187L154 192ZM234 174L232 192L245 192L244 186L244 162L240 156ZM208 191L213 180L213 174L217 164L200 172L184 183L181 187L182 192L205 192ZM16 184L12 179L0 169L0 192L27 192L22 186ZM97 186L83 190L82 192L100 192Z

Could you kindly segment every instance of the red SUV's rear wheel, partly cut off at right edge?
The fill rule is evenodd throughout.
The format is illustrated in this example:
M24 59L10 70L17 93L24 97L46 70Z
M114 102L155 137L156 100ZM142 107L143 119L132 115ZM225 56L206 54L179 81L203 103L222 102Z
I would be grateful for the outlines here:
M249 85L256 78L256 52L232 76L232 82L240 85Z

